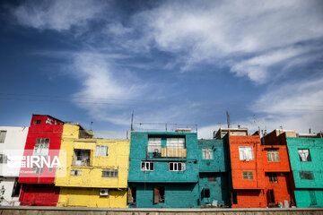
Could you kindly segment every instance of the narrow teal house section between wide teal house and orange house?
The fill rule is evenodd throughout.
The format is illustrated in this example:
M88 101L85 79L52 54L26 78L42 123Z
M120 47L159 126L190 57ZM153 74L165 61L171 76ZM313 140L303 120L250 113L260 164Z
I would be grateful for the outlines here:
M230 206L229 161L223 140L198 140L197 153L201 206Z

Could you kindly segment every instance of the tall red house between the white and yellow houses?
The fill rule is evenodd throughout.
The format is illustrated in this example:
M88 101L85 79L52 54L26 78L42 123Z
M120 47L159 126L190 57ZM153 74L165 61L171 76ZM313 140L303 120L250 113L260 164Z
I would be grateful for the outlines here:
M64 122L52 116L32 115L24 158L44 155L52 162L59 153L63 125ZM19 183L22 183L21 205L56 206L59 196L59 187L54 185L56 169L30 166L21 168L19 175Z

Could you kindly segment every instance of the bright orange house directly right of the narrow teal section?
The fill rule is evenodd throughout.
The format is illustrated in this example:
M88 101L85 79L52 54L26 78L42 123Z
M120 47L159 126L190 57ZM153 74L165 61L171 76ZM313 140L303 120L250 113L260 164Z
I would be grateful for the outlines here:
M231 207L265 208L266 182L259 133L223 138L231 161Z

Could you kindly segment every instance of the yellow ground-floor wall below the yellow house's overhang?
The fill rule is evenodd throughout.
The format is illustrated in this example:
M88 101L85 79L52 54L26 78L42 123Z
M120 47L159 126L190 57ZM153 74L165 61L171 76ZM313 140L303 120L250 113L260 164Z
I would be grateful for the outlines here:
M127 190L109 189L109 196L100 196L98 188L62 187L57 206L127 208Z

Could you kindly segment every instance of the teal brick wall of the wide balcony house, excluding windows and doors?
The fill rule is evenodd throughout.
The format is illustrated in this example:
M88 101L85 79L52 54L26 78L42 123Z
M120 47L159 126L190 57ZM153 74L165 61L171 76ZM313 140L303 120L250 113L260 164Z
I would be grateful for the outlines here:
M149 158L148 137L185 137L187 158ZM165 147L165 143L162 144ZM198 155L196 133L132 132L129 157L129 187L136 188L136 207L139 208L194 208L197 207ZM153 171L141 171L141 161L153 161ZM168 162L186 163L185 171L168 170ZM165 202L153 204L153 187L165 187ZM179 201L181 200L181 201ZM130 205L133 206L133 205Z

